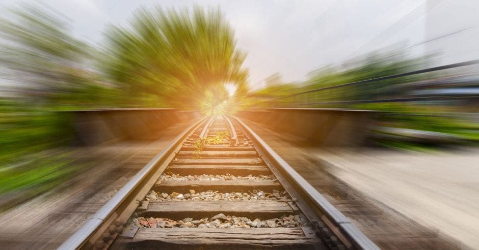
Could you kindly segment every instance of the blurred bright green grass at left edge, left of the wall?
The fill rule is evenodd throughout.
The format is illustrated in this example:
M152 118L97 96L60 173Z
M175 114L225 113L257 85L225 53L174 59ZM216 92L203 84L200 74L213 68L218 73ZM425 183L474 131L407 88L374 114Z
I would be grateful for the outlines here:
M0 100L0 196L29 199L58 186L81 168L73 164L70 152L52 150L71 138L68 115Z

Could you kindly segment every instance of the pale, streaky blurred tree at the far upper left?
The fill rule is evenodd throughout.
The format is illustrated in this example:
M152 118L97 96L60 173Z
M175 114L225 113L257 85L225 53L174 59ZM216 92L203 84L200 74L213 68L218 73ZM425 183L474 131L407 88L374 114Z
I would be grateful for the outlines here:
M69 35L67 22L35 5L0 20L0 64L18 97L42 106L91 104L98 99L95 49Z

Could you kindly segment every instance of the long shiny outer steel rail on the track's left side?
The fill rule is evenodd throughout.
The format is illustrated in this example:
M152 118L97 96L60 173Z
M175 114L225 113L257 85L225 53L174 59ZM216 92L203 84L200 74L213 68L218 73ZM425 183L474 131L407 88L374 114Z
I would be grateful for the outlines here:
M151 173L155 166L164 161L172 151L181 143L185 137L203 122L205 118L195 122L185 129L180 135L173 139L168 146L161 150L155 157L145 165L135 176L133 176L105 205L103 205L80 229L70 236L63 244L58 247L62 250L81 248L90 237L102 226L110 215L120 206L120 204L133 193L139 184Z

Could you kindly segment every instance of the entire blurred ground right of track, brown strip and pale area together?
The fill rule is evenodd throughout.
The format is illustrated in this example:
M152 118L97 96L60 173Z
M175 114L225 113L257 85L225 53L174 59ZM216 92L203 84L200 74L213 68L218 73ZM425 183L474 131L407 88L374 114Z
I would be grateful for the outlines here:
M381 248L479 248L478 150L325 150L244 121Z

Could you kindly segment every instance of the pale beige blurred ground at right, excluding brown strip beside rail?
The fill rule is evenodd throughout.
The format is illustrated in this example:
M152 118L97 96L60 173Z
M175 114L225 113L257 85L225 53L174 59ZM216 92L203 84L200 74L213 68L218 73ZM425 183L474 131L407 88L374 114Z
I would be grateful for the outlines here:
M479 151L413 153L308 149L355 189L479 248Z

